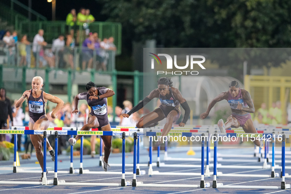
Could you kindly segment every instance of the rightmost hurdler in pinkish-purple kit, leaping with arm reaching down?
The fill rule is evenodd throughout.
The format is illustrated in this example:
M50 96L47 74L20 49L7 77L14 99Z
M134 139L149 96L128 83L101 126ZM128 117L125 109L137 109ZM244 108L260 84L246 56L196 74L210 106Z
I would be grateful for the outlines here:
M255 112L250 93L244 89L240 89L237 81L230 82L229 91L221 93L210 102L206 112L200 115L200 119L205 119L216 102L224 99L228 101L232 113L227 118L225 124L222 119L218 121L217 125L221 132L226 132L226 129L229 128L242 127L246 133L257 133L250 114ZM262 146L262 141L256 139L254 144Z

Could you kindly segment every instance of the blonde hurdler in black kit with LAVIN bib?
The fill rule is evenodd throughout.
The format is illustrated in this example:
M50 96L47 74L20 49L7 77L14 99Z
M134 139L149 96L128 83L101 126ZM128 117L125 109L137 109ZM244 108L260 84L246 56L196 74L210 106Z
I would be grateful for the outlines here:
M55 110L52 112L51 117L53 119L56 118L56 113L62 108L64 101L58 97L47 94L41 90L43 86L43 79L39 76L32 78L32 89L27 90L23 93L22 97L17 100L15 103L16 108L20 107L21 104L27 99L28 107L29 107L29 115L30 115L30 130L45 130L49 127L49 121L46 117L45 109L47 100L57 103ZM43 153L42 153L42 145L43 135L30 135L32 140L32 145L35 149L36 158L41 166L43 171ZM47 142L47 148L50 152L52 161L55 161L55 152L50 145L49 141ZM46 172L48 172L46 170ZM41 177L39 181L42 181L43 173L41 173Z

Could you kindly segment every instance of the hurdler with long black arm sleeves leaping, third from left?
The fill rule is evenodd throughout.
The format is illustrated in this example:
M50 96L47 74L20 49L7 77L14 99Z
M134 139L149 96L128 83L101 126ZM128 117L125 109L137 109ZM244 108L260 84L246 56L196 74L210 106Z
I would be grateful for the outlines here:
M162 136L166 135L172 128L172 124L176 122L181 115L181 106L185 110L184 119L179 123L180 127L184 127L189 115L190 107L181 92L173 87L173 82L170 78L161 77L158 80L158 89L153 90L149 96L145 97L141 102L134 106L127 114L122 114L123 117L129 117L132 113L138 111L145 106L154 97L158 97L161 100L161 105L154 111L143 116L136 124L137 128L154 127L158 125L158 122L167 118L166 124L162 130ZM156 146L159 146L161 142L157 142Z

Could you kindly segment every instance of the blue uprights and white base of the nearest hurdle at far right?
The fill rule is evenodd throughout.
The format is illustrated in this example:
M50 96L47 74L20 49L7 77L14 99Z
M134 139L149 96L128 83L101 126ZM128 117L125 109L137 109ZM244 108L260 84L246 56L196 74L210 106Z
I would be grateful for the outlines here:
M249 133L252 134L252 133ZM253 133L254 134L254 133ZM217 133L214 134L214 136L217 137ZM282 137L282 182L281 187L279 186L233 186L233 185L223 185L223 183L217 183L216 177L221 176L217 175L217 138L214 141L214 175L213 175L213 184L212 188L224 188L224 189L290 189L291 185L286 184L285 182L285 141L286 141L286 135L283 134Z

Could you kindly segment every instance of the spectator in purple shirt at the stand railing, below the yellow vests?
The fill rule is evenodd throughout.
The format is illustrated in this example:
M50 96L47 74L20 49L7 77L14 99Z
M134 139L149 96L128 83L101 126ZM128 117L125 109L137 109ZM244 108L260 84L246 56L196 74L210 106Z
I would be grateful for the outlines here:
M86 63L88 62L88 70L91 70L92 62L93 62L93 51L95 50L95 41L94 36L90 35L86 38L83 42L83 62L82 62L82 69L85 70Z

